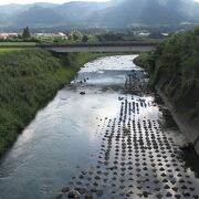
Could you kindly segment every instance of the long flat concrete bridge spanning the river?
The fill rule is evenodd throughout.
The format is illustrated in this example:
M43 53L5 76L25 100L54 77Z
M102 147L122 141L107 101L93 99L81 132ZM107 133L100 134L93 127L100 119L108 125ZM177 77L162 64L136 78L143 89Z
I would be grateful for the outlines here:
M115 42L115 43L83 43L83 44L38 44L48 51L64 52L149 52L154 51L157 42Z

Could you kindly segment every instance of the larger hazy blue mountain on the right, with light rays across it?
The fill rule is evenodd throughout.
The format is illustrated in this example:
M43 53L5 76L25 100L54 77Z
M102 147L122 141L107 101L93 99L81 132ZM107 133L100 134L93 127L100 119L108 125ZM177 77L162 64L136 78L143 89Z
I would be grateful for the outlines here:
M93 24L105 27L177 24L199 20L199 3L193 0L126 0L98 11L90 20Z

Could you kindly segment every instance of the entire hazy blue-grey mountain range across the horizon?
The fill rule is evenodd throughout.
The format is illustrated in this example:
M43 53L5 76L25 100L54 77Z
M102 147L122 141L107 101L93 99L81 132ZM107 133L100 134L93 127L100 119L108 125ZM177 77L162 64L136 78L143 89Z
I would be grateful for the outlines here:
M115 27L167 25L199 22L195 0L73 1L63 4L0 6L0 27Z

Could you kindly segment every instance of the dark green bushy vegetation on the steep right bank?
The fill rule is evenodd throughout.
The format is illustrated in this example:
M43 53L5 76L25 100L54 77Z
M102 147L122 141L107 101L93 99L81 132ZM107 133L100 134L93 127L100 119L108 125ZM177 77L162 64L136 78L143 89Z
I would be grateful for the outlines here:
M151 84L160 85L177 109L199 116L199 28L171 36L135 63L150 72Z

